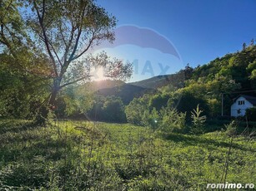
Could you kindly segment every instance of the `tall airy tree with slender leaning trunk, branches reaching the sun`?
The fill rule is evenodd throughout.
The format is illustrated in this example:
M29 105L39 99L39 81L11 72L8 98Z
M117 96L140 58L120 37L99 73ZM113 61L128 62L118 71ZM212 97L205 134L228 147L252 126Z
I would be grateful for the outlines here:
M110 59L105 52L98 56L85 56L93 46L102 41L113 42L113 27L116 18L108 14L94 0L28 0L19 1L4 0L6 14L14 12L21 24L26 23L25 29L19 31L12 28L11 35L3 31L9 31L8 25L1 22L2 40L13 56L13 45L8 44L7 39L13 39L12 35L18 34L21 43L31 46L31 50L43 53L48 61L48 77L53 80L52 91L47 102L47 107L54 106L58 92L65 86L78 81L86 81L91 77L94 66L106 68L109 77L123 78L131 76L130 64L124 64L118 59ZM2 2L2 3L3 3ZM10 8L13 7L13 8ZM19 8L18 8L19 7ZM23 12L22 12L23 11ZM0 15L0 17L7 17ZM4 19L2 19L5 21ZM10 19L9 19L10 20ZM8 24L12 21L6 21ZM14 32L15 31L15 32ZM16 35L17 36L17 35ZM25 42L21 37L30 37ZM111 72L110 72L111 71ZM43 117L48 111L43 109Z

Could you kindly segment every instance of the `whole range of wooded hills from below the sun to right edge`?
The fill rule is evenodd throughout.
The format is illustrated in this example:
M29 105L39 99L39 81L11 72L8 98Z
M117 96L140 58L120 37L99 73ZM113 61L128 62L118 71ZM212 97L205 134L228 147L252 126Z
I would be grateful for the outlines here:
M248 94L253 94L251 90L255 89L255 78L256 47L250 46L243 51L216 58L208 64L197 66L194 69L186 66L185 69L178 71L176 74L154 76L147 80L129 84L118 83L118 89L113 86L103 86L98 90L103 89L100 91L103 96L120 96L127 104L130 100L133 100L133 97L143 96L144 93L149 92L147 90L163 88L163 86L172 86L174 90L177 90L184 87L191 88L197 84L205 84L208 86L208 94L210 92L229 93L231 89L233 91L250 91ZM135 86L138 86L138 88ZM198 92L202 91L203 93L204 90L203 88ZM150 92L155 93L156 91Z

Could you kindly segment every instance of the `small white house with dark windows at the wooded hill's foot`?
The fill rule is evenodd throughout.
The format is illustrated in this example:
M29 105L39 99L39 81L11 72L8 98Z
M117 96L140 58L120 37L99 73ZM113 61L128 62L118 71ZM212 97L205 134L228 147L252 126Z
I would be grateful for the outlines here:
M234 99L231 105L231 116L238 117L244 116L248 108L256 106L256 97L240 95Z

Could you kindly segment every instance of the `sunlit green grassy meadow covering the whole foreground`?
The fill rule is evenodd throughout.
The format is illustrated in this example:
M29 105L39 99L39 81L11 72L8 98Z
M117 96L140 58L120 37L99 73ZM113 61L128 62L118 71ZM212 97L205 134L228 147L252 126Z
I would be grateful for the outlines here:
M160 135L128 124L57 121L35 127L0 120L0 188L205 190L224 180L256 184L255 151L255 140L240 136L230 143L223 132Z

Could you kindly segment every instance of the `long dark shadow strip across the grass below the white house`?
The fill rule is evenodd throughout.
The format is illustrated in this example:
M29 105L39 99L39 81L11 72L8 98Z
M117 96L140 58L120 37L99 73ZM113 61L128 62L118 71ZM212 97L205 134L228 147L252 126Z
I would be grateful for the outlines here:
M230 146L230 143L228 143L229 140L227 140L228 142L224 142L224 141L210 140L200 136L191 136L191 135L169 134L164 136L163 139L172 140L175 143L182 143L185 145L196 146L199 144L206 148L212 148L211 146L229 148ZM232 143L231 146L232 148L241 149L243 151L256 152L256 149L248 149L236 143Z

